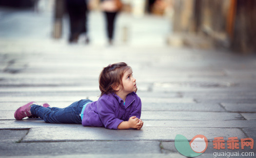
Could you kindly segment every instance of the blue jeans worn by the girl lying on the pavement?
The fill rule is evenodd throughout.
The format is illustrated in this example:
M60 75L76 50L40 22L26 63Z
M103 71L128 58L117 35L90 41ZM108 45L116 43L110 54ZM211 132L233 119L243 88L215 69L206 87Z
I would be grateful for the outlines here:
M80 113L83 105L88 102L92 102L92 100L82 99L72 103L66 108L45 108L39 105L32 105L30 111L32 115L39 116L46 123L81 124Z

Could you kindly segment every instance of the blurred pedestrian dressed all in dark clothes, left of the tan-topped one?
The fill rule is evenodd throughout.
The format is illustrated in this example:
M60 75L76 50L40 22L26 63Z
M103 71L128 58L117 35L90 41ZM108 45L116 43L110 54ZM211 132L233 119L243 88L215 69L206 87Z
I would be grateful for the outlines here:
M66 0L66 7L70 23L69 42L77 43L79 36L82 34L85 36L85 43L89 43L86 0Z

